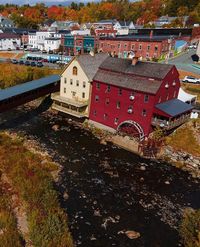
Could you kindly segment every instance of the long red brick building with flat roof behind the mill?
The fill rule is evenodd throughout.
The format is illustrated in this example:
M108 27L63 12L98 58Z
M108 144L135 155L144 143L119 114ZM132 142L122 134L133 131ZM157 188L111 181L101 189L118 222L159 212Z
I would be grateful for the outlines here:
M122 58L134 53L141 59L151 60L168 54L173 42L166 37L154 36L100 37L98 51Z

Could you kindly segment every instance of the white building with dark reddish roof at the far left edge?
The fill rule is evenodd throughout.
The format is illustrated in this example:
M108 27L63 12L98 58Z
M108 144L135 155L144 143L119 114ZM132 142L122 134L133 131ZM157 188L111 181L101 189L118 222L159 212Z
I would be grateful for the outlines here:
M0 33L0 50L16 50L21 46L20 36L12 33Z

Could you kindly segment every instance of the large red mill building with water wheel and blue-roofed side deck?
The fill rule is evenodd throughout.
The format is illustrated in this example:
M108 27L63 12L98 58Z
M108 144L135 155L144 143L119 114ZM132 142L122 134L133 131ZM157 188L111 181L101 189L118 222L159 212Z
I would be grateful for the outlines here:
M93 78L90 121L140 139L156 126L173 129L192 110L177 99L179 88L173 65L108 57Z

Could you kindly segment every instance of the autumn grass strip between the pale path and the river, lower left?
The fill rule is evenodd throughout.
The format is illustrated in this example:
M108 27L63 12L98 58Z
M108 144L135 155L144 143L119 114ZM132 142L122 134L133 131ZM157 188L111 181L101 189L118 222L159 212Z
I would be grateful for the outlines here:
M29 238L34 247L72 247L67 217L60 208L51 171L55 166L28 151L23 141L0 134L0 169L26 205ZM13 245L14 246L14 245Z

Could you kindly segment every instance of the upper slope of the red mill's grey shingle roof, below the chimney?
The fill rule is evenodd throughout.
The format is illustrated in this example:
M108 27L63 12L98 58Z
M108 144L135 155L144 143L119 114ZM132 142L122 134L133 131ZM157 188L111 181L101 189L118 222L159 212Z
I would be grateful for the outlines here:
M173 65L153 62L141 62L133 66L131 59L108 57L100 65L101 69L116 71L118 73L132 74L143 77L163 79L172 69Z

